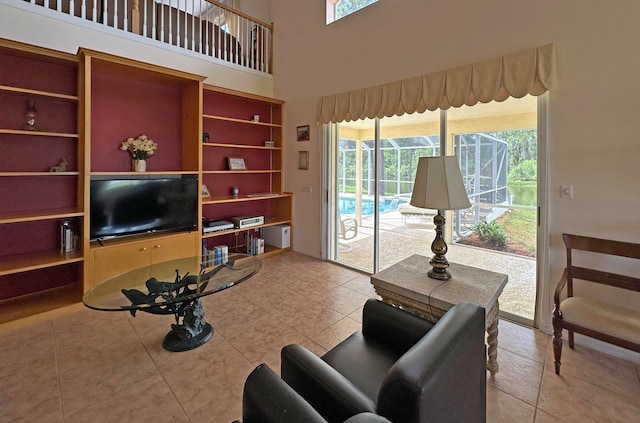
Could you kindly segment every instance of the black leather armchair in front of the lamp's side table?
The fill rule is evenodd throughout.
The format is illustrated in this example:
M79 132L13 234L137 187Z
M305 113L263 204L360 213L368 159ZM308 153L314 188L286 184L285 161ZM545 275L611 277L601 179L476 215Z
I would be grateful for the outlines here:
M282 350L282 379L323 418L362 412L393 422L485 422L484 309L458 304L432 324L377 300L356 332L322 358Z

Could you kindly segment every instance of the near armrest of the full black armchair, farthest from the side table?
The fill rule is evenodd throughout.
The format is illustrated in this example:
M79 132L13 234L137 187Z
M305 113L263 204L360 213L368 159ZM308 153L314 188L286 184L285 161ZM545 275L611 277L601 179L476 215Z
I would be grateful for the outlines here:
M281 366L282 379L329 421L376 412L373 400L301 345L282 349Z

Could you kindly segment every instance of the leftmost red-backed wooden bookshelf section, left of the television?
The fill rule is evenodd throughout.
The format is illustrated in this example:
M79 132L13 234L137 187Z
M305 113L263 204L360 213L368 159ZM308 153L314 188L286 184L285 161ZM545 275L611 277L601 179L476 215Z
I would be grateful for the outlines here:
M0 69L2 325L81 299L82 245L61 252L60 226L83 227L84 148L76 56L0 39Z

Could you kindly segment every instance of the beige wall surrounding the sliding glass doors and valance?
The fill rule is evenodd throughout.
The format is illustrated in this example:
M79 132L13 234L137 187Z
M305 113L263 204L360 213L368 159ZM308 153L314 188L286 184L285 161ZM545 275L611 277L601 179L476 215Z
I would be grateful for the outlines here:
M541 310L565 264L561 234L640 242L640 2L380 0L325 25L324 2L273 0L274 94L286 103L286 189L295 193L295 249L321 253L318 97L448 69L553 42L549 97L549 267ZM292 19L291 17L296 17ZM295 140L311 124L311 141ZM308 171L297 150L311 151ZM572 184L574 199L560 198ZM311 194L302 193L311 185ZM623 265L624 267L625 265ZM640 269L633 269L636 275ZM609 290L611 291L611 290ZM611 302L638 307L640 299Z

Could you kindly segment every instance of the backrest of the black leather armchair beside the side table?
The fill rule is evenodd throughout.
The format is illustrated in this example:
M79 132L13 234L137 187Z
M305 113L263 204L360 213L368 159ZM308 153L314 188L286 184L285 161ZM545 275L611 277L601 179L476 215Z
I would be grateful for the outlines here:
M458 304L389 370L378 414L394 422L485 422L485 313Z

